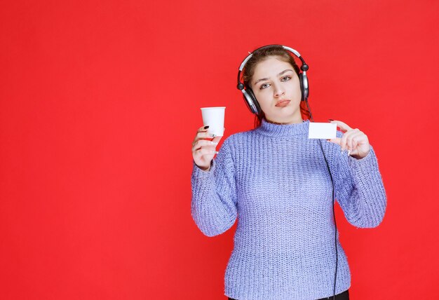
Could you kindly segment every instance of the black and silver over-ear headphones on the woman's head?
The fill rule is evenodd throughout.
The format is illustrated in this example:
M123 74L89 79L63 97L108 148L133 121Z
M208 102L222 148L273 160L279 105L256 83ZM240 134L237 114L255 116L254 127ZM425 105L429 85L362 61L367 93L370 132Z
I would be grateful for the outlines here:
M267 46L262 46L260 48L257 48L252 53L250 53L247 57L245 57L245 60L243 60L243 62L241 63L241 66L239 67L239 71L238 71L238 86L237 86L237 88L238 88L238 90L241 90L241 92L243 92L244 102L245 102L245 104L247 104L247 107L248 107L248 109L250 109L252 114L259 115L262 112L262 109L259 106L259 103L257 102L255 94L253 93L252 89L250 87L245 88L244 83L241 82L241 72L243 71L245 64L248 62L248 60L250 60L250 58L253 56L253 54L256 51L261 50L263 48L272 47L272 46L280 46L280 47L284 48L285 50L288 50L290 53L299 57L299 59L302 61L302 67L300 67L300 69L302 71L298 74L299 81L300 81L300 91L302 92L302 99L301 100L306 101L306 104L308 104L309 84L308 84L308 78L306 77L306 71L308 71L308 64L306 64L305 60L300 55L300 53L297 52L297 50L295 50L293 48L290 48L287 46L282 46L282 45L267 45Z

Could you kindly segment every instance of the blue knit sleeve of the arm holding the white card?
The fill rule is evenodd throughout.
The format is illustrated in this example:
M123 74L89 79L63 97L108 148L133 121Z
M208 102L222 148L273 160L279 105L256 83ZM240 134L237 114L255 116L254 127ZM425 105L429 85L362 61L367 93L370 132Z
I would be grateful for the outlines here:
M335 156L335 198L346 219L360 228L378 226L386 211L386 191L373 147L367 156L357 159L338 146Z

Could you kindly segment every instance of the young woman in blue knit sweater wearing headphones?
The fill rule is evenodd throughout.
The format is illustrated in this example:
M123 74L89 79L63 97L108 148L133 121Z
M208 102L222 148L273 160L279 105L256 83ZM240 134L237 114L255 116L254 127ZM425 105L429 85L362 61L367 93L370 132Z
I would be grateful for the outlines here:
M337 138L308 139L299 74L283 46L258 48L243 68L260 108L256 128L229 136L218 152L221 137L205 127L192 143L196 225L216 236L238 218L225 272L229 299L349 299L333 197L353 226L384 218L386 193L367 136L332 121L342 130Z

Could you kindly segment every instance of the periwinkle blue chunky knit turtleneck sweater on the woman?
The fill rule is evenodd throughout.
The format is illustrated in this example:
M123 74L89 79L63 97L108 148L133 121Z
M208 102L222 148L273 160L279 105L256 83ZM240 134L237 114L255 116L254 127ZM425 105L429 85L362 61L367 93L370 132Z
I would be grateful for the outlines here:
M238 218L224 294L238 300L319 299L332 296L335 224L332 184L309 121L276 125L224 140L209 171L195 163L191 215L206 236L227 231ZM337 137L342 132L337 131ZM335 198L353 226L381 223L386 192L377 157L356 159L320 140L330 164ZM336 294L351 286L337 236Z

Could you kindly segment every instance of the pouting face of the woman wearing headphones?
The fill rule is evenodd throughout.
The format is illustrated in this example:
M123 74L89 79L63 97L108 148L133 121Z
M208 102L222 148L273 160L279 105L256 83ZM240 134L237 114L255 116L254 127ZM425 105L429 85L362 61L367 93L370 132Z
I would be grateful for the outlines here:
M255 67L250 87L267 121L301 123L299 76L288 62L269 57Z

